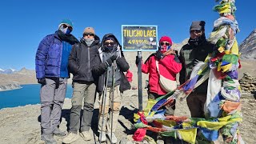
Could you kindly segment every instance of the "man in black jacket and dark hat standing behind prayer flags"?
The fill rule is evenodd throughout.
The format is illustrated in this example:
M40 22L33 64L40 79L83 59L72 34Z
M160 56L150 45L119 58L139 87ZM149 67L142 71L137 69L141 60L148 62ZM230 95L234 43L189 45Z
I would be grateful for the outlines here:
M192 22L190 26L189 42L182 46L179 59L182 62L179 81L184 83L190 79L193 67L199 62L204 62L207 55L212 53L214 45L206 41L204 21ZM208 81L198 86L192 94L186 98L187 105L190 108L190 114L193 118L204 118L204 105L206 102Z

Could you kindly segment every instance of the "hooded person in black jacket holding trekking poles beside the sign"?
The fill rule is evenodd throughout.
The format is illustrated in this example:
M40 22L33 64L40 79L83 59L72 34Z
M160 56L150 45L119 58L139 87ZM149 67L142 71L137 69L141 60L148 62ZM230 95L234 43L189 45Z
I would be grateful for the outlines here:
M95 58L93 73L99 76L98 78L98 92L99 92L99 121L98 131L100 133L99 139L102 142L106 141L106 132L111 143L118 142L118 139L114 135L114 131L118 124L118 116L121 108L122 92L130 89L130 82L128 82L123 72L129 70L130 66L123 57L122 51L120 50L120 44L114 34L106 34L102 38L102 47L98 50L98 57ZM106 78L106 73L109 72L109 77ZM114 82L113 82L114 74ZM107 80L107 82L106 82ZM114 84L114 90L112 90ZM103 90L106 89L106 105L105 112L103 115L102 109L102 98ZM113 93L112 93L113 92ZM113 101L113 133L111 138L111 117L109 109L111 109L111 96L114 94ZM104 104L103 104L104 105ZM102 119L103 126L102 126Z

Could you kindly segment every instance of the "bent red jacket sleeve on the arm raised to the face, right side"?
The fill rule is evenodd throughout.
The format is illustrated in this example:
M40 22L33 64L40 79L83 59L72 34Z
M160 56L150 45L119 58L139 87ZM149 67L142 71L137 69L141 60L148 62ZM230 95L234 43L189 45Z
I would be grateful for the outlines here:
M178 74L182 70L182 63L174 61L174 55L163 58L159 63L162 63L168 70L174 72L174 74Z

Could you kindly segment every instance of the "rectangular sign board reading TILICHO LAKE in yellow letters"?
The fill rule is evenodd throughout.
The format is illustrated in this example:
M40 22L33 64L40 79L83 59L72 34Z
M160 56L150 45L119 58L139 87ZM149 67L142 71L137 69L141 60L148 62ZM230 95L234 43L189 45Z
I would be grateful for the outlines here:
M158 50L158 26L122 25L122 51Z

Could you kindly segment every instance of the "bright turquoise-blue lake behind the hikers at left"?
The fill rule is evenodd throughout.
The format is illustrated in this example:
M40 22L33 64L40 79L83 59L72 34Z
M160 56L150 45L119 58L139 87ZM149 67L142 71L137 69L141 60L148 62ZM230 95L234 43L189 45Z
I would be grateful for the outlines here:
M40 103L41 85L22 85L22 89L0 92L0 109ZM68 85L66 98L71 98L72 86Z

